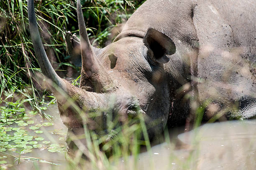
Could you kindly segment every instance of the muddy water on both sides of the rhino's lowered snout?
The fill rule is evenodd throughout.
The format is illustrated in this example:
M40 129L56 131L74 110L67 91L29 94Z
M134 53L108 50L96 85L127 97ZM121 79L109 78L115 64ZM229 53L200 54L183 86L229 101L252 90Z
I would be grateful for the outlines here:
M67 128L59 117L57 106L51 105L46 113L53 116L54 125L44 127L44 133L39 135L51 143L66 145L64 138ZM36 116L33 117L36 123L44 122ZM173 128L168 142L152 147L149 152L140 153L138 158L131 156L113 165L118 169L138 170L256 169L256 120L211 123L183 132L184 127ZM28 157L43 161L21 160L19 165L16 162L10 169L70 169L64 152L51 153L46 148L38 148L22 154L22 158Z

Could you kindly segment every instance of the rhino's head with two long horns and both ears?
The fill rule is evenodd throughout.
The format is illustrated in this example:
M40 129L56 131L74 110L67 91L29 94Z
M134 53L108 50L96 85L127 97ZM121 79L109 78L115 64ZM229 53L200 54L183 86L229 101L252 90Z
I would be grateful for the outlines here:
M61 79L51 67L38 32L33 0L28 0L33 46L42 72L53 82L52 91L64 124L69 129L81 128L82 120L59 91L70 97L81 110L101 110L102 117L106 116L104 110L124 117L136 117L142 112L149 136L161 133L172 97L164 63L169 61L166 55L175 53L174 42L158 30L149 28L144 37L123 37L98 49L90 44L80 0L77 0L77 15L80 40L70 32L66 40L69 53L82 57L80 87ZM95 123L104 128L104 121Z

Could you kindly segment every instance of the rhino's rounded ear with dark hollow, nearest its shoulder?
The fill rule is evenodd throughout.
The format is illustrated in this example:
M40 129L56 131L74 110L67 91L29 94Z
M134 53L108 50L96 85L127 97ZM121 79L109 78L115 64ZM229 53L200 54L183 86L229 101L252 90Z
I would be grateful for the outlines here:
M166 55L172 55L176 51L172 39L154 28L148 29L143 42L150 52L151 59L159 63L168 62Z

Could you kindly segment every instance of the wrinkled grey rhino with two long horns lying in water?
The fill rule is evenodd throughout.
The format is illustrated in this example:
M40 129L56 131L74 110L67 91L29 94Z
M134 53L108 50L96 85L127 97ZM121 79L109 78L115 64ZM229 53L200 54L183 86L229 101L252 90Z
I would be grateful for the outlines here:
M147 0L102 49L90 45L79 0L77 7L82 47L70 32L66 41L70 55L82 52L79 88L59 78L49 65L33 18L33 0L28 0L40 67L80 108L111 108L131 117L143 112L150 138L161 133L167 121L170 126L184 122L197 106L193 101L212 102L212 112L234 104L239 108L236 115L255 116L254 0ZM193 97L190 106L185 93ZM69 130L81 128L63 97L57 101Z

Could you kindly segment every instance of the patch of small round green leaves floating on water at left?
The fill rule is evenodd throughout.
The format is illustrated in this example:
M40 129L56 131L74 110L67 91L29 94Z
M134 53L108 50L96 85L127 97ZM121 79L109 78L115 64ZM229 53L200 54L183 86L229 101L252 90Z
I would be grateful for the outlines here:
M36 152L36 150L47 150L49 153L66 152L64 144L59 144L58 140L52 140L52 137L47 135L49 133L47 130L54 133L51 128L54 125L52 122L42 120L35 111L25 111L23 106L19 107L18 110L21 113L18 116L10 113L13 109L6 107L1 107L1 109L4 111L0 116L0 155L4 156L1 156L3 166L0 165L0 167L7 168L6 165L10 166L26 161L27 157L23 155ZM63 140L64 136L64 133L58 133L56 138ZM39 158L30 158L30 160L44 161ZM45 163L50 162L46 161ZM55 165L54 163L50 164Z

